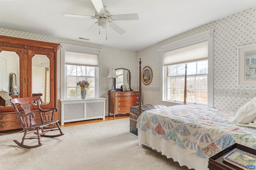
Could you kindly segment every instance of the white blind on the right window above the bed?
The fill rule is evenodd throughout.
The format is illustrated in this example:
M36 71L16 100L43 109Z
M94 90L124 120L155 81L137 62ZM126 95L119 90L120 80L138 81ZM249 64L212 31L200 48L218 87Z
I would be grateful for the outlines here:
M164 52L164 66L208 59L208 41Z

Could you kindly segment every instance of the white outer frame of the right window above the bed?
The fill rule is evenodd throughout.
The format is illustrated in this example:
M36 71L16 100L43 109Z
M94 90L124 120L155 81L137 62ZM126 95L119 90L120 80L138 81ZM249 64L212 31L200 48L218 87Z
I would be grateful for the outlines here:
M159 48L161 51L160 55L160 78L162 84L160 85L160 104L164 104L166 106L173 106L177 104L181 104L179 102L170 102L166 100L165 92L166 92L166 78L165 78L165 66L164 66L164 52L178 49L181 47L185 47L188 45L192 45L194 43L198 43L201 41L208 41L208 107L213 107L213 29L208 31L204 31L197 35L193 35L191 37L187 37L185 39L181 39L179 41L175 41L173 43L164 45Z

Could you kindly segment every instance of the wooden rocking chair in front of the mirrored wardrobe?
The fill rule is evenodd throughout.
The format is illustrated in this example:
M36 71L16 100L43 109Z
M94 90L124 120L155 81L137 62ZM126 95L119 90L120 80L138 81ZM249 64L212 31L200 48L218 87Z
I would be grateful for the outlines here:
M19 143L18 141L14 140L14 142L19 145L20 147L24 147L24 148L36 148L36 147L40 147L42 146L41 144L41 136L43 137L59 137L64 135L64 133L62 133L61 129L60 129L60 125L58 124L58 120L54 120L54 113L55 111L58 111L58 108L54 107L52 109L49 110L43 110L40 108L40 96L34 96L34 97L27 97L27 98L15 98L15 99L10 99L14 110L16 111L16 114L18 115L20 122L22 123L23 126L23 130L24 130L24 136L22 137L22 141L21 143ZM30 110L30 106L31 103L33 103L34 101L36 101L37 107L38 107L38 111L40 115L40 119L41 122L40 123L36 123L36 121L34 120L35 114L31 112ZM19 106L24 110L24 114L20 113L18 111L17 106ZM48 127L50 125L55 125L55 127L57 126L57 128L54 129L47 129L44 130L44 127ZM42 133L40 133L40 130ZM58 135L45 135L46 133L50 132L50 131L55 131L55 130L59 130L60 134ZM28 131L31 131L28 133ZM36 131L36 132L34 132ZM26 138L27 134L33 133L36 134L36 136L34 137L29 137ZM34 145L34 146L28 146L28 145L24 145L24 140L25 139L38 139L38 145Z

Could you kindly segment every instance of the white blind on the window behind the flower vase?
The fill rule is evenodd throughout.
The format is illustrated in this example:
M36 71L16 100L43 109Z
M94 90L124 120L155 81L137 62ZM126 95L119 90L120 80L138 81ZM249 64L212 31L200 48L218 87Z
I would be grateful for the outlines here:
M98 66L98 55L65 50L65 64Z

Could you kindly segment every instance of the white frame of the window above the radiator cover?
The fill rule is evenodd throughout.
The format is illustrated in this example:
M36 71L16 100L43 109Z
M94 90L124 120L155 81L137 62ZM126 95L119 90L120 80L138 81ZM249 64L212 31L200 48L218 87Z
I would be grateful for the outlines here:
M60 89L60 98L62 100L67 99L67 92L66 92L66 72L65 72L65 50L67 51L74 51L80 53L90 53L98 55L98 71L96 70L96 84L95 84L95 98L101 97L101 86L102 86L102 56L100 54L100 49L91 48L91 47L84 47L79 45L71 45L71 44L60 44L61 48L61 89Z

